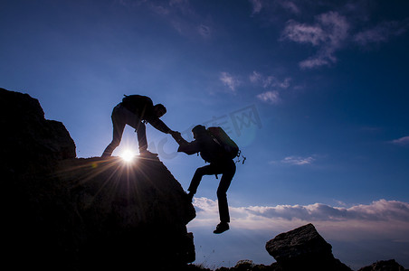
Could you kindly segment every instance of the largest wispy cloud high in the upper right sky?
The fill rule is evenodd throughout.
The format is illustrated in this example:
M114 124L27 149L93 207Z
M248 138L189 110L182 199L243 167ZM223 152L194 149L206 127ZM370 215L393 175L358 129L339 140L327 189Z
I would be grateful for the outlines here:
M337 62L335 52L347 40L348 30L346 17L331 11L317 16L314 24L290 20L281 33L281 41L290 40L317 47L314 56L300 62L300 68L311 69Z

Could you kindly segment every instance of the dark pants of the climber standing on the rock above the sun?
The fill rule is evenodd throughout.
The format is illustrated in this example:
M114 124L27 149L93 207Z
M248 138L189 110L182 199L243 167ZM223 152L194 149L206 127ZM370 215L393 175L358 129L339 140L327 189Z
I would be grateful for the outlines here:
M102 156L110 156L115 148L119 146L126 125L133 127L137 132L139 152L147 150L147 127L140 121L140 117L130 112L119 103L119 105L112 110L111 119L113 126L112 141L109 143Z

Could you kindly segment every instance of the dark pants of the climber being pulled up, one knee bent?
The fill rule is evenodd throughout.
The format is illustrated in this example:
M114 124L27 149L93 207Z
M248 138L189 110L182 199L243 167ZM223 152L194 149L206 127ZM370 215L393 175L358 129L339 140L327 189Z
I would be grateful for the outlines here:
M217 200L219 204L219 217L221 222L230 222L229 206L227 204L227 190L230 183L233 180L234 173L236 172L236 164L233 160L225 161L224 163L208 164L203 167L199 167L195 171L195 175L190 182L190 186L187 191L195 194L197 187L204 175L222 174L222 178L217 188Z

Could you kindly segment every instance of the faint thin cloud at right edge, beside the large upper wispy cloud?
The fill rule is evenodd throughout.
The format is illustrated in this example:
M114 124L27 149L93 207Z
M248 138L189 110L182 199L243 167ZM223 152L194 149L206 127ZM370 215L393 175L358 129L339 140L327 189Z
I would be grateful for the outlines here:
M377 24L375 27L357 33L354 36L354 42L365 46L368 43L388 42L392 36L404 34L409 27L409 21L406 19L402 23L391 21Z

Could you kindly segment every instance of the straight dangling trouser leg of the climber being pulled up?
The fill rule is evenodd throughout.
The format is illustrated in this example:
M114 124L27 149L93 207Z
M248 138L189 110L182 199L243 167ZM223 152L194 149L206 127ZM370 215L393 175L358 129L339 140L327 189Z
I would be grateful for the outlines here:
M219 216L221 222L230 222L229 206L227 203L227 190L233 180L236 165L233 160L224 166L224 173L217 188L217 200L219 205Z

